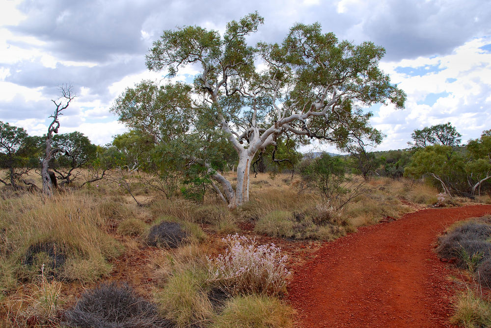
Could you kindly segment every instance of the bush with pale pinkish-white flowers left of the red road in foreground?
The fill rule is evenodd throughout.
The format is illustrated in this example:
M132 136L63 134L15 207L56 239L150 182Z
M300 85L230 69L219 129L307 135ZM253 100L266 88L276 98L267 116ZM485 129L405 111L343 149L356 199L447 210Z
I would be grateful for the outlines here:
M228 235L224 254L208 258L209 282L230 295L278 295L286 289L286 255L273 243L257 245L255 239Z

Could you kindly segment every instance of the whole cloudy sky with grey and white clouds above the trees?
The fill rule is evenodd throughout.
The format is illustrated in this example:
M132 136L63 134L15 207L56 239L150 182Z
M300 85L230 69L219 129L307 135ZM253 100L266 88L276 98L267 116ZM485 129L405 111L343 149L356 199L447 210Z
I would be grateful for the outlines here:
M491 1L487 0L0 0L0 121L46 132L57 85L78 98L60 132L104 145L125 131L109 112L126 87L150 73L144 57L164 29L226 22L257 10L250 38L281 42L296 22L320 22L339 39L386 49L381 67L408 94L406 109L374 106L380 150L407 147L414 129L451 122L463 141L491 128ZM181 79L196 74L192 67ZM332 148L326 148L332 151Z

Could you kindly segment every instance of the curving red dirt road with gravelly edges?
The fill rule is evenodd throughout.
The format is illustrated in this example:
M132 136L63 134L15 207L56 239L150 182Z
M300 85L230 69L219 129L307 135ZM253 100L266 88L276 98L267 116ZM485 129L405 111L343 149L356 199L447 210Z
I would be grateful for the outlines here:
M324 244L290 283L295 327L449 327L454 287L436 236L490 213L491 205L426 209Z

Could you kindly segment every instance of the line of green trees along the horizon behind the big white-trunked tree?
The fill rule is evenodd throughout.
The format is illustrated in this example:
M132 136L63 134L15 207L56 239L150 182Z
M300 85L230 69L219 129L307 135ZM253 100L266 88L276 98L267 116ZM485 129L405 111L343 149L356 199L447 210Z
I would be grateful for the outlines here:
M382 137L379 133L369 139L377 144ZM335 191L332 185L347 181L350 174L365 180L374 176L425 179L447 194L491 192L491 130L483 131L480 138L469 140L466 145L461 145L461 134L450 123L414 130L412 139L408 149L367 151L360 138L357 143L347 144L344 150L348 155L330 159L332 156L323 154L304 159L297 151L297 140L279 138L275 147L255 155L251 171L272 176L296 172L304 181L315 182L325 196ZM0 122L0 168L5 170L0 182L13 188L30 188L33 182L26 176L33 170L40 172L46 140L46 135L29 136L22 127ZM104 147L92 144L81 132L54 134L51 146L57 151L49 168L58 185L69 186L74 181L84 185L108 178L109 172L116 171L137 173L142 183L167 198L181 194L199 201L207 190L217 187L210 178L213 171L189 156L176 155L190 145L156 144L150 134L139 130L117 135ZM230 147L228 143L214 144L210 161L213 170L235 170L238 156Z

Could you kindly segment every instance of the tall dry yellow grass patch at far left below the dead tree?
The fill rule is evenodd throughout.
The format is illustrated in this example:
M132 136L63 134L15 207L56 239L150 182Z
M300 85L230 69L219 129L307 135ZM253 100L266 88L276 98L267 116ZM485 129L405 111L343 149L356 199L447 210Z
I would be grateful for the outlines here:
M35 245L55 243L66 256L60 278L92 281L107 275L106 260L117 256L121 247L101 229L105 221L96 204L83 193L52 199L25 194L1 201L2 239L10 245L2 260L13 266L17 278L31 279L36 268L23 263L27 252Z

